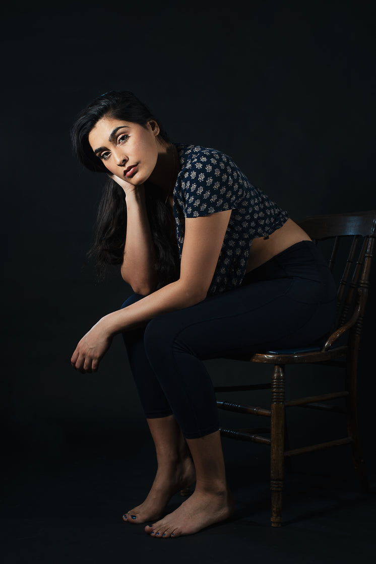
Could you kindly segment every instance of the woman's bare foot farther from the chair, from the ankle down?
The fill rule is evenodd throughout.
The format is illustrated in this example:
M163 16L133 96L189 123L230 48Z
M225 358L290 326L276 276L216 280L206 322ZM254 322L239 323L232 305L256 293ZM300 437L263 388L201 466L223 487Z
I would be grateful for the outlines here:
M141 505L130 509L123 515L123 520L128 523L144 523L158 519L163 515L171 497L180 490L193 484L196 472L191 457L161 469L158 466L157 474L147 498Z

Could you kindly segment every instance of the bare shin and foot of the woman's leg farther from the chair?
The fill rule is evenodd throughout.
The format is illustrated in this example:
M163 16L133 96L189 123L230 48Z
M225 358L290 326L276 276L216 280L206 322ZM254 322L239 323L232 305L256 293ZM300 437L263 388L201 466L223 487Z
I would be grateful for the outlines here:
M167 503L178 491L196 479L187 442L173 415L147 419L156 447L158 469L151 490L141 505L123 515L129 523L144 523L163 515Z

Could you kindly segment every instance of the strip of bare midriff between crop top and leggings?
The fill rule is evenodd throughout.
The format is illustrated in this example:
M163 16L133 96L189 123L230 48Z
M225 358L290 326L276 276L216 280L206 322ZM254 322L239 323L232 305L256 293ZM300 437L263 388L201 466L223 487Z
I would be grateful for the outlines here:
M292 219L287 219L282 227L269 235L268 239L257 237L252 241L246 272L263 265L276 254L300 241L311 241L311 239Z

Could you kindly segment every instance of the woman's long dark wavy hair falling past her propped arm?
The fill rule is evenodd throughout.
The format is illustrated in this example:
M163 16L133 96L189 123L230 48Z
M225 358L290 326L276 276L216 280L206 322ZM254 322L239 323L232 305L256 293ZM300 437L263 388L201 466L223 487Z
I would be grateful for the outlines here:
M93 100L77 116L72 127L73 153L89 170L108 173L103 162L94 155L89 144L89 133L104 116L130 121L146 127L150 120L157 121L160 137L169 142L166 131L148 107L132 92L110 91ZM158 138L157 138L158 139ZM162 141L162 142L163 142ZM163 191L145 182L145 202L155 249L154 270L161 288L179 277L179 255L176 240L172 237L171 213L163 198ZM96 257L99 279L103 279L107 265L121 265L126 239L127 206L124 191L108 179L102 192L95 224L94 243L88 252Z

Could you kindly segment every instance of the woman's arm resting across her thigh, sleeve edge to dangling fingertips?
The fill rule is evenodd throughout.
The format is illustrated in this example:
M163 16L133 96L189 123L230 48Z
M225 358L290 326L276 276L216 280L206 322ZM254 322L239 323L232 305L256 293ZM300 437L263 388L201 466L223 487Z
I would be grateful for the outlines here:
M125 309L105 315L79 341L72 366L96 372L116 333L142 326L158 315L193 306L206 298L232 210L185 219L179 280Z

